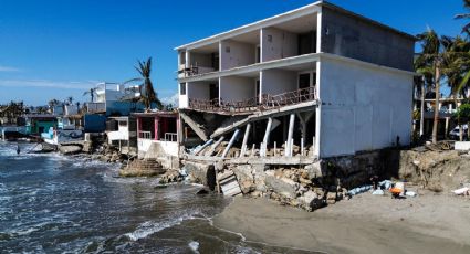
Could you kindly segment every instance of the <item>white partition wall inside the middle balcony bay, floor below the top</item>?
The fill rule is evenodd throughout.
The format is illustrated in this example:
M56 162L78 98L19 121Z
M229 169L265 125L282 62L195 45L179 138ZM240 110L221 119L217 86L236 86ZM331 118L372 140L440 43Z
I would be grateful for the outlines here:
M227 76L220 77L220 99L242 100L255 96L255 78Z

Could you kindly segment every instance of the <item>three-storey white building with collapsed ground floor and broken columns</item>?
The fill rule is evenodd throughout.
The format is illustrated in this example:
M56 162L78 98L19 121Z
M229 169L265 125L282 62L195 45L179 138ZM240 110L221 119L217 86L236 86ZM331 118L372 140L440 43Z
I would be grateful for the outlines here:
M414 49L412 35L324 1L178 46L180 140L219 158L409 145Z

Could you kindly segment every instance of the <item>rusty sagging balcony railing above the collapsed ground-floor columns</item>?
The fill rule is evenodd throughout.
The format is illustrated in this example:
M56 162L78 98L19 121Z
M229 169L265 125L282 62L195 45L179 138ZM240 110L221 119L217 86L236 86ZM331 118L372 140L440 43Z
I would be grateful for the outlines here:
M279 95L264 94L259 103L258 97L242 100L197 99L189 98L189 108L205 112L252 112L267 110L316 99L315 87L286 92Z

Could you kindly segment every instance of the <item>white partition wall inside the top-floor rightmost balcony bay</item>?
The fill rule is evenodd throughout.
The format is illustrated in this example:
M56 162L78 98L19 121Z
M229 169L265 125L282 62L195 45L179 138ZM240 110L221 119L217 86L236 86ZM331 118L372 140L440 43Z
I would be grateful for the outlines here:
M272 36L272 41L269 41ZM279 29L262 29L261 32L261 61L285 59L297 55L299 52L297 34L282 31Z

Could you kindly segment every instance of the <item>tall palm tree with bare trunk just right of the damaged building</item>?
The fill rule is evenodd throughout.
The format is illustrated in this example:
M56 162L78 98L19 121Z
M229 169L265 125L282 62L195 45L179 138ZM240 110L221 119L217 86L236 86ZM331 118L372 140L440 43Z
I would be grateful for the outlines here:
M432 142L437 142L437 130L439 124L439 97L440 97L440 81L442 77L441 65L445 52L439 35L431 29L418 34L418 40L421 42L422 52L415 60L415 68L425 77L432 77L434 88L436 93L435 100L435 117L432 125Z

